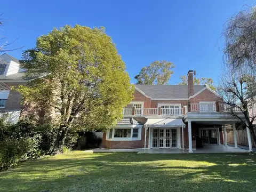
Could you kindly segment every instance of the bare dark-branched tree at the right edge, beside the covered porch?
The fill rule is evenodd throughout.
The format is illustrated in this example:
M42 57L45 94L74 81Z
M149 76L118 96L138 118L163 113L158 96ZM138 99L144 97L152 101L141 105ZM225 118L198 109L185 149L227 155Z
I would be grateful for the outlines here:
M254 142L256 142L256 135L253 124L256 114L249 109L253 109L255 103L254 97L252 97L252 94L255 93L252 91L255 84L256 70L253 67L233 67L227 64L223 68L218 86L218 92L223 98L223 102L229 106L231 115L250 129ZM234 108L238 111L234 111Z

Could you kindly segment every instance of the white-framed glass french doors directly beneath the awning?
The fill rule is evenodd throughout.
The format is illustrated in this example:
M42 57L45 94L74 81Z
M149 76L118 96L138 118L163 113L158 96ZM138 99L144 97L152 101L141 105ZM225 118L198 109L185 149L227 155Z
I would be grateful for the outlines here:
M177 147L177 129L153 129L152 147Z

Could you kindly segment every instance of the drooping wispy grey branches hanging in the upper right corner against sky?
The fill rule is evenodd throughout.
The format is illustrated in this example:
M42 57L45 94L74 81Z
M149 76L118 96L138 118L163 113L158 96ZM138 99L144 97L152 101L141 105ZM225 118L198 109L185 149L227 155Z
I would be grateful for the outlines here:
M223 36L225 37L226 62L233 67L255 66L256 60L256 9L239 12L228 20Z

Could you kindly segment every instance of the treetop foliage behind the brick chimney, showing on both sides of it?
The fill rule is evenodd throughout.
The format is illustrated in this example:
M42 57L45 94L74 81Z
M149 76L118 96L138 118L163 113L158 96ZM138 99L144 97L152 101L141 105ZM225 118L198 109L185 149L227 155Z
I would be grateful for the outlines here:
M186 75L180 76L180 79L181 79L181 83L178 83L178 85L188 85L188 77ZM193 82L194 82L194 85L207 85L210 87L211 90L213 91L216 90L216 87L213 84L212 78L206 78L206 77L196 78L194 76Z

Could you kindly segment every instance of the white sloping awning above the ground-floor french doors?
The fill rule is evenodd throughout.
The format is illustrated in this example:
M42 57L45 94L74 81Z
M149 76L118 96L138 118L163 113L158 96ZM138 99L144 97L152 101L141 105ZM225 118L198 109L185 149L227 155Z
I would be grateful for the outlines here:
M182 118L148 118L147 127L185 127Z

